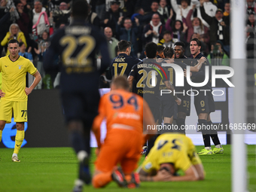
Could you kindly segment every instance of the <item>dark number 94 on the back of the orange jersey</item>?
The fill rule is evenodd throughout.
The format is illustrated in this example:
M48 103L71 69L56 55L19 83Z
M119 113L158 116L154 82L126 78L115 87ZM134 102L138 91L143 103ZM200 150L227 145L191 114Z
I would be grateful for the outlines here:
M113 104L113 108L122 108L123 107L123 96L120 96L118 94L112 94L110 96L110 101ZM138 102L136 99L136 96L131 96L128 100L127 103L129 105L133 105L133 107L135 108L135 110L138 110Z

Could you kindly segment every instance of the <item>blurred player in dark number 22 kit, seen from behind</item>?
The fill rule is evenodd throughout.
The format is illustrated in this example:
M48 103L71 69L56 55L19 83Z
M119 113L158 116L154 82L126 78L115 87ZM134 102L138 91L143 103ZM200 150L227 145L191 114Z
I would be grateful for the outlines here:
M61 58L60 92L69 138L80 163L74 191L90 183L90 129L98 114L99 76L109 66L108 44L102 32L86 23L87 1L72 2L72 23L59 29L50 41L44 69L56 68L53 59ZM96 66L96 53L102 54L101 68Z

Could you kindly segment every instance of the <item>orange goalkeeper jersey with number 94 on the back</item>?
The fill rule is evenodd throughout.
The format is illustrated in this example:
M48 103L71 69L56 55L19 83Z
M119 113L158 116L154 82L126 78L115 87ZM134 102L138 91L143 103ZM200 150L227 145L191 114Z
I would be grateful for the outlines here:
M143 98L135 93L125 90L111 90L102 96L99 102L99 115L93 123L96 139L100 138L100 124L105 118L107 136L112 130L143 131L143 105L148 109L148 104L143 103Z

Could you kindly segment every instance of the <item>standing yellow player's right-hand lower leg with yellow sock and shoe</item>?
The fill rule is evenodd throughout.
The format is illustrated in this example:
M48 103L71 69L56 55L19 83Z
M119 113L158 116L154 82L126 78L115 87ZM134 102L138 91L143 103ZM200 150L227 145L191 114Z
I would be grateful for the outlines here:
M17 133L15 136L14 154L11 157L11 160L14 162L20 162L18 158L18 153L20 151L21 145L23 144L23 140L25 137L24 122L17 122L16 129Z

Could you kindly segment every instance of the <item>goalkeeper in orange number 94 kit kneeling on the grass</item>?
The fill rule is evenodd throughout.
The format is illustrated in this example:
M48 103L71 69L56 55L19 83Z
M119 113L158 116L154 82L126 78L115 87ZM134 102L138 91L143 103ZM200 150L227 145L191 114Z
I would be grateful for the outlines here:
M104 118L107 134L102 144L100 125ZM139 174L134 170L138 166L143 143L156 133L155 130L144 133L143 125L145 130L147 125L155 125L147 102L129 92L126 78L114 78L111 91L100 99L99 115L93 123L98 144L93 187L104 187L111 181L116 181L120 187L139 187Z

